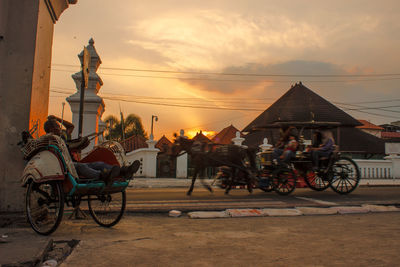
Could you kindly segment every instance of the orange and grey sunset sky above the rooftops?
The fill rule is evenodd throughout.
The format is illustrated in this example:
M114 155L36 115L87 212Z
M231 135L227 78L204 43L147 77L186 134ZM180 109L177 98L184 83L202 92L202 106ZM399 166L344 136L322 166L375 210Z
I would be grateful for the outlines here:
M156 139L241 130L298 81L357 119L397 121L399 18L398 0L78 0L55 26L49 113L93 38L103 118L121 108L149 133L157 115Z

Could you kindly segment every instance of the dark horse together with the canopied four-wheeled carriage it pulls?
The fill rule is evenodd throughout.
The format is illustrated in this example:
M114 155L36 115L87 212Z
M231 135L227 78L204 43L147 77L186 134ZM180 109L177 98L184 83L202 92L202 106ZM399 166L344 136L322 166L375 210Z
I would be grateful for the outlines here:
M360 171L357 164L349 157L341 155L338 146L327 157L321 158L318 170L314 170L311 152L307 151L304 131L336 129L339 136L339 124L335 122L288 122L274 123L268 128L300 129L299 147L295 157L289 163L279 163L273 158L273 149L257 153L260 166L257 168L254 149L237 147L235 145L220 145L208 152L204 149L193 149L193 140L177 137L175 146L178 151L188 152L194 160L195 173L188 195L193 191L193 185L198 173L206 167L220 167L214 184L219 181L222 188L229 193L232 186L247 186L249 192L259 188L265 192L275 191L280 195L292 193L297 180L304 179L313 190L322 191L331 187L339 194L348 194L358 186ZM310 145L310 144L309 144ZM222 166L222 167L221 167ZM203 183L204 184L204 183ZM205 185L210 191L211 187Z

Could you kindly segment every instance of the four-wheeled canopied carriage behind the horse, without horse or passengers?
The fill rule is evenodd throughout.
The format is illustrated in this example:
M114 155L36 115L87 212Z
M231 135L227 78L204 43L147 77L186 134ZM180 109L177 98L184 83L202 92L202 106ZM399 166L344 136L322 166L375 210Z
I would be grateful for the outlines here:
M259 153L261 162L260 188L264 191L276 191L288 195L296 188L298 178L304 179L308 187L323 191L330 187L338 194L349 194L360 181L360 170L351 158L342 155L339 146L328 156L319 160L317 170L313 170L311 152L307 150L303 132L336 129L339 141L339 123L336 122L279 122L268 127L294 126L300 128L299 149L290 164L278 164L272 157L272 149ZM311 145L311 144L308 144Z

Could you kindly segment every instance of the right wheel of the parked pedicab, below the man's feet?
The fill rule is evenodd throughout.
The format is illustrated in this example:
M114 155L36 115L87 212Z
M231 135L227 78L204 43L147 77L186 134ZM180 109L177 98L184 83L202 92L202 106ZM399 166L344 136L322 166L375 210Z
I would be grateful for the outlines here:
M91 195L88 198L90 215L101 226L111 227L121 220L126 206L125 191Z

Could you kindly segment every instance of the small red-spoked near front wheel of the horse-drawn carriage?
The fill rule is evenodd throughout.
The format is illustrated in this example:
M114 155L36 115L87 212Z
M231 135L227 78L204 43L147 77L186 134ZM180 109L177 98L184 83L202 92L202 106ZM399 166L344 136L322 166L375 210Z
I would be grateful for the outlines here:
M272 172L272 186L279 195L289 195L296 188L296 174L292 169L279 168Z

